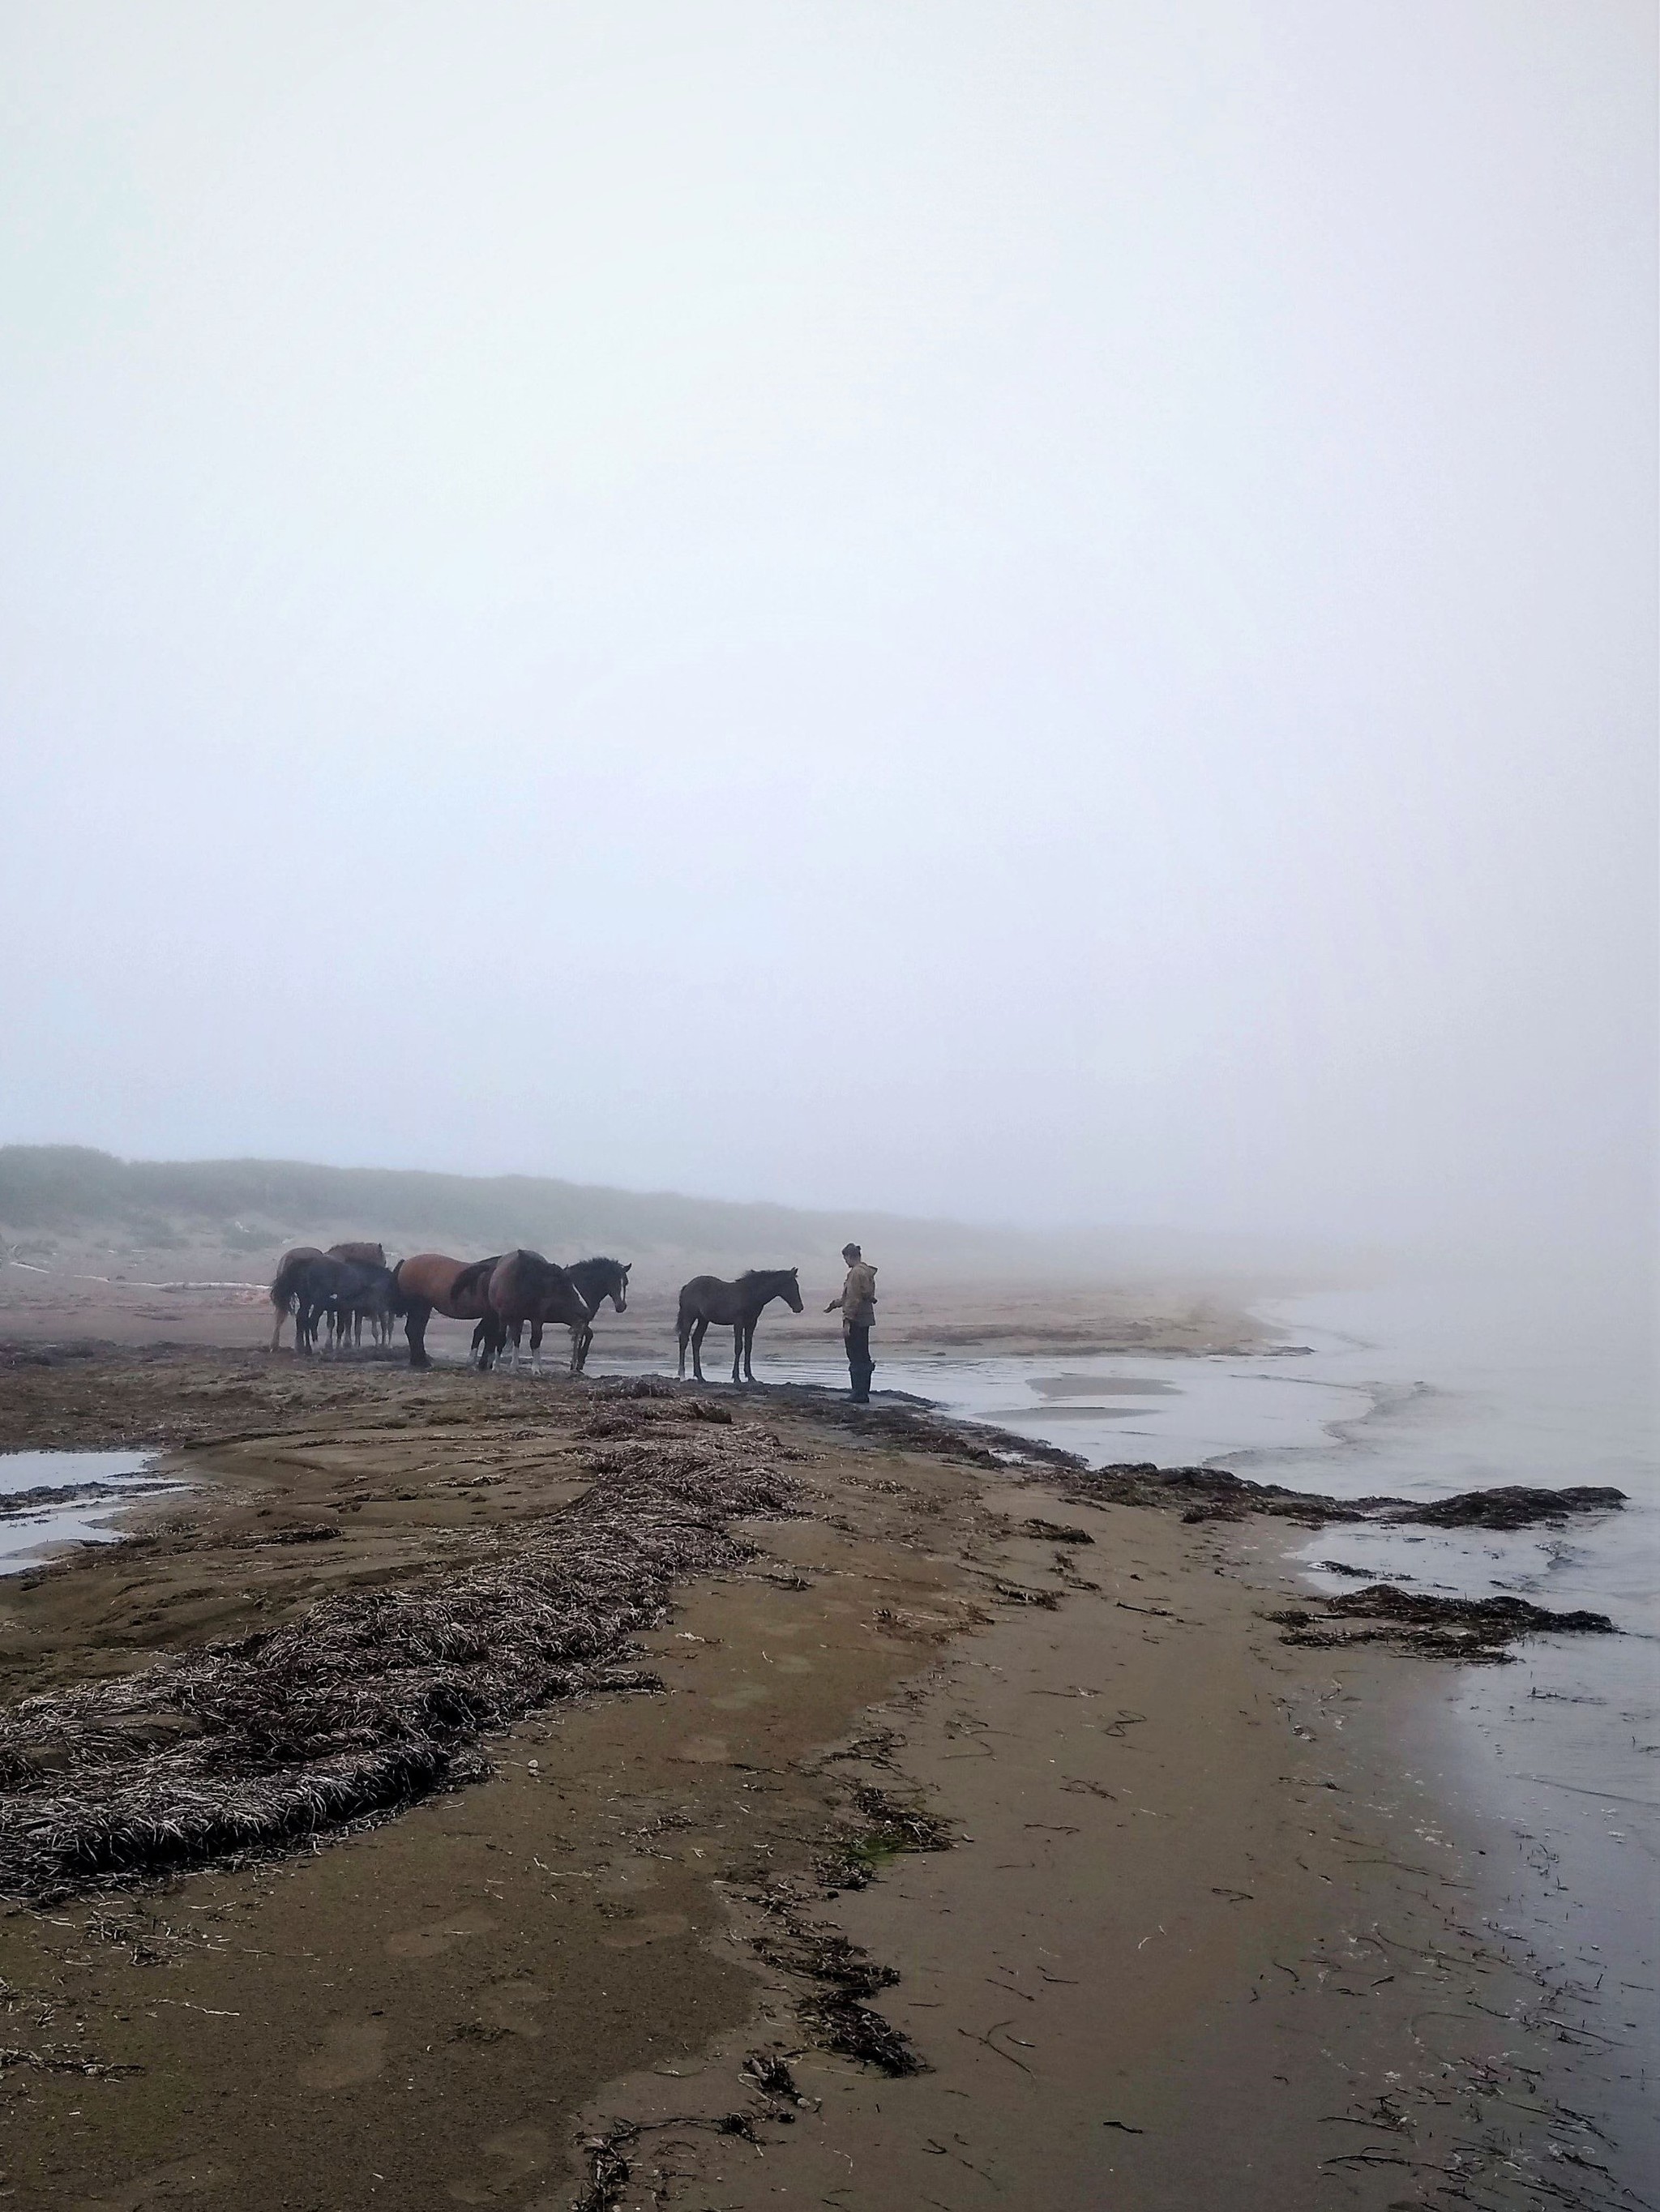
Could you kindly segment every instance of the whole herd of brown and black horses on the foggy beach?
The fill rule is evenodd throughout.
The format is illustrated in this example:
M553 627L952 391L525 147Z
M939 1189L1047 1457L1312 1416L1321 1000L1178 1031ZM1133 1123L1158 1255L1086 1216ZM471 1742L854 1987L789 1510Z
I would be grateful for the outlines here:
M283 1323L294 1318L294 1352L310 1354L319 1336L328 1352L339 1354L363 1343L363 1325L376 1345L392 1343L394 1321L403 1321L409 1340L409 1365L432 1367L427 1323L434 1314L449 1321L471 1321L471 1349L480 1369L500 1363L513 1347L520 1365L525 1329L531 1332L531 1365L542 1367L542 1329L553 1323L571 1332L571 1367L580 1376L593 1343L593 1316L604 1301L622 1314L629 1307L629 1265L615 1259L580 1259L558 1267L540 1252L516 1245L489 1259L449 1259L445 1252L416 1252L387 1267L378 1243L339 1243L328 1252L299 1245L286 1252L270 1285L277 1327L270 1349L277 1352ZM750 1267L726 1283L715 1274L697 1274L679 1292L675 1336L679 1374L686 1374L691 1349L693 1376L704 1380L704 1336L710 1327L733 1332L733 1383L755 1380L755 1325L772 1298L784 1298L792 1314L801 1312L801 1283L795 1267Z

